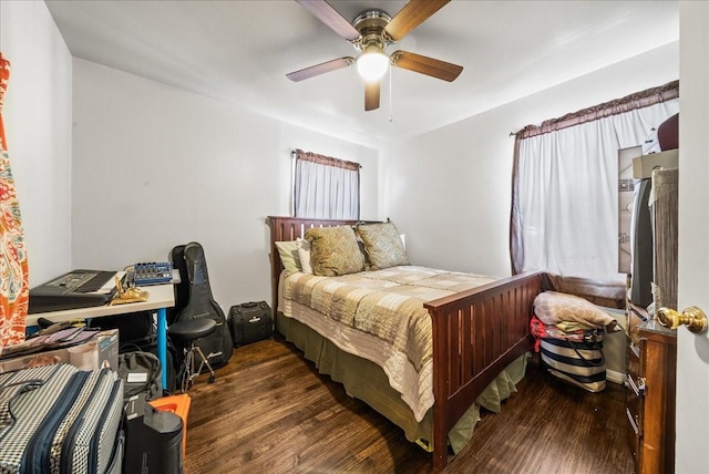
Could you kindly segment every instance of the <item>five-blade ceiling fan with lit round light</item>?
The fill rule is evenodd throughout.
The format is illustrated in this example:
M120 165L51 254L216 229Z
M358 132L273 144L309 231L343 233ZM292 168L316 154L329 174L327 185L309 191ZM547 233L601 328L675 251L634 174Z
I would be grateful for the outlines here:
M352 23L326 0L296 1L352 43L359 55L357 59L338 58L286 74L291 81L299 82L357 64L359 74L364 79L364 110L372 111L379 109L381 78L387 73L389 65L449 82L454 81L463 71L463 66L408 51L394 51L390 55L386 52L387 48L401 40L451 0L410 0L393 18L379 9L366 10L358 14Z

